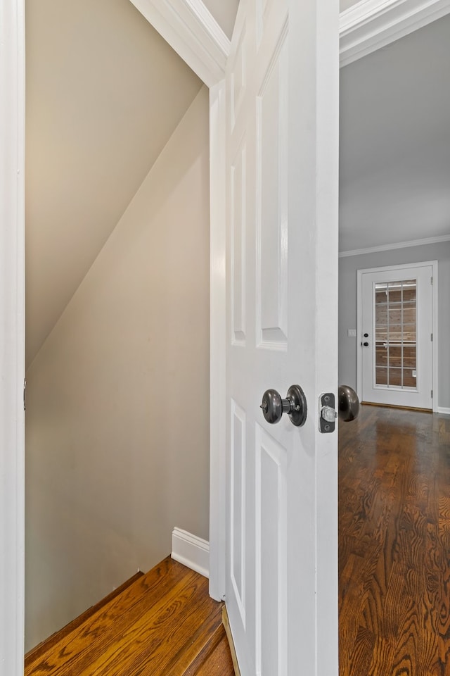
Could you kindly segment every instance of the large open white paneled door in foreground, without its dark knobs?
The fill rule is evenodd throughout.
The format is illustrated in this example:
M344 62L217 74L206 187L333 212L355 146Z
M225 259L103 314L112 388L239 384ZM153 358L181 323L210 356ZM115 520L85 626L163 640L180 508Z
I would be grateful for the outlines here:
M334 676L338 3L241 0L226 80L226 604L242 676ZM267 423L292 384L306 423Z

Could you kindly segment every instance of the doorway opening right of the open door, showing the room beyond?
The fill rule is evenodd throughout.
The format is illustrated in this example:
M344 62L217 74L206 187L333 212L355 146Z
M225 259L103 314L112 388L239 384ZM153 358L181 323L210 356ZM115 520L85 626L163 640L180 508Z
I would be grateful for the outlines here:
M339 436L349 676L448 663L435 609L449 575L449 36L446 16L341 69L340 384L375 403Z

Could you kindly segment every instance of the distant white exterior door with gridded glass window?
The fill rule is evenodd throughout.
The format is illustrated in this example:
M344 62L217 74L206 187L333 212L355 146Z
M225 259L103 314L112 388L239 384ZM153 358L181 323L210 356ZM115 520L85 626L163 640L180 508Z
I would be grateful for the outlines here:
M361 400L432 408L433 266L360 273Z

